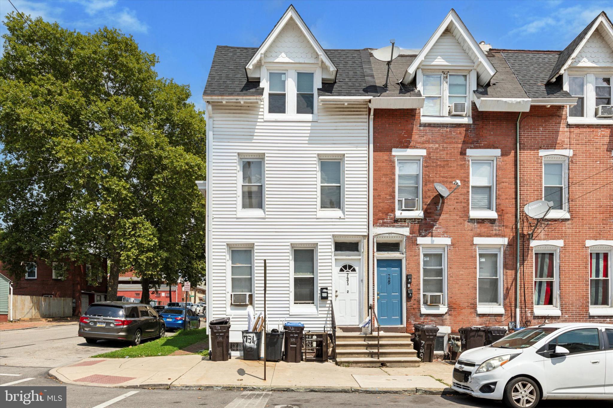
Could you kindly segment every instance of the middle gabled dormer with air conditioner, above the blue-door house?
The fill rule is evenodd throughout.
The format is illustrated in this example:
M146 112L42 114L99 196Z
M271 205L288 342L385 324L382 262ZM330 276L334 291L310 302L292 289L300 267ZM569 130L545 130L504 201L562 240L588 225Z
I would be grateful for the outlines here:
M470 123L473 91L496 69L454 9L411 62L402 83L425 97L422 123Z

